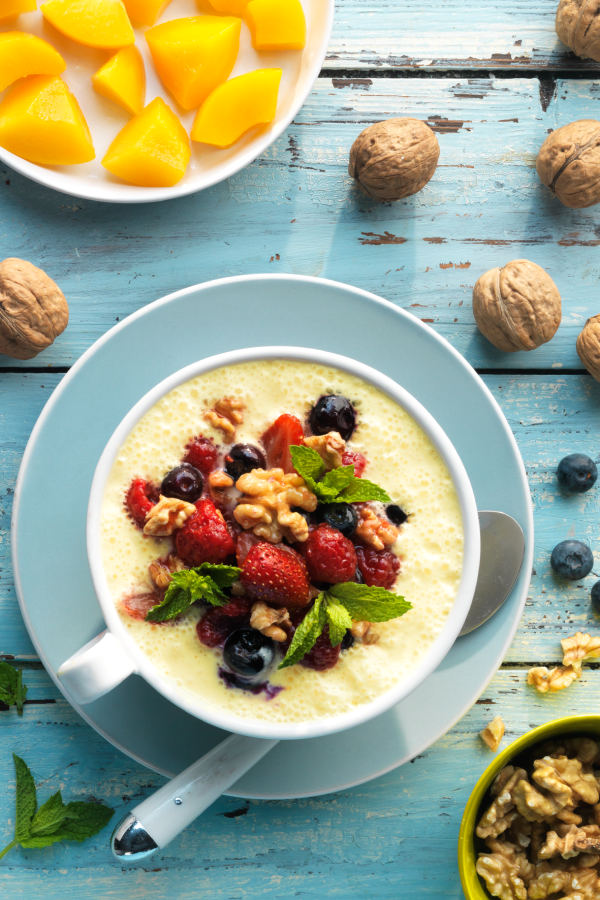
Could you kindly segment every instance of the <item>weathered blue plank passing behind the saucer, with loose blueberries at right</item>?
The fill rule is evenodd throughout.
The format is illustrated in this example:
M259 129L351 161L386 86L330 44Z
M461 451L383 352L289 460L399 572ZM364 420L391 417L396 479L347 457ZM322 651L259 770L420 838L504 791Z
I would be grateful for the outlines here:
M0 655L35 658L18 609L10 563L10 509L18 465L35 419L60 376L0 373ZM550 553L559 541L577 537L600 559L598 496L561 494L555 479L567 453L598 453L600 384L589 376L487 375L484 378L517 438L529 478L535 510L535 558L530 600L507 661L552 662L559 638L589 630L600 633L593 613L590 575L568 584L550 570ZM43 386L43 387L42 387ZM485 448L482 446L482 452ZM600 568L596 569L600 577Z

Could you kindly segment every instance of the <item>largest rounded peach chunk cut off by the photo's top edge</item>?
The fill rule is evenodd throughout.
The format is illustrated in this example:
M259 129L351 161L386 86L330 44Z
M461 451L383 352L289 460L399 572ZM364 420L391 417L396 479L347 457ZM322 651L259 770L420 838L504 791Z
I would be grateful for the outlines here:
M40 9L58 31L86 47L116 50L135 43L121 0L48 0Z

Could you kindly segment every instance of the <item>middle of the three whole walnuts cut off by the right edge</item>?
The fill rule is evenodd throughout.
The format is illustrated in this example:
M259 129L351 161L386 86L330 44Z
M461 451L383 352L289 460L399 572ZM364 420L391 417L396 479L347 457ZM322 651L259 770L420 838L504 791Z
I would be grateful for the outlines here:
M570 209L600 203L600 122L580 119L553 131L540 147L535 168L540 181Z

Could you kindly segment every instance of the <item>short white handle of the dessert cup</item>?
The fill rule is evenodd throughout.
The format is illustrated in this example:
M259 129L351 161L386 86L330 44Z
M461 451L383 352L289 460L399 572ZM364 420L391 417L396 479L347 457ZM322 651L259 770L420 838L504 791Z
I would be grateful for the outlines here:
M137 669L110 631L103 631L60 666L57 675L75 703L108 694Z

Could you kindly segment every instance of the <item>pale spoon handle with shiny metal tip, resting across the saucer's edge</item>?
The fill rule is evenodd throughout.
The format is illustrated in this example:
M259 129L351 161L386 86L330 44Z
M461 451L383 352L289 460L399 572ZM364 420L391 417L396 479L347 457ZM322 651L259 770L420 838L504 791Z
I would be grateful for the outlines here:
M117 825L111 838L114 855L136 861L166 847L277 743L232 734Z

